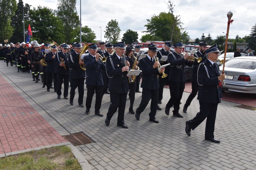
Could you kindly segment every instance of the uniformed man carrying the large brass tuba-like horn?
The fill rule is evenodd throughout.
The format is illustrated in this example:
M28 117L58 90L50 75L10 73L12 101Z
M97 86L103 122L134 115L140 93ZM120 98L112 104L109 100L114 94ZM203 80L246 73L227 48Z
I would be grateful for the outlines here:
M79 60L80 50L82 44L77 42L74 45L75 51L69 54L69 68L70 68L70 105L73 105L73 100L75 97L75 89L78 87L78 105L84 107L84 78L85 70L81 69L81 65L84 64L82 60Z

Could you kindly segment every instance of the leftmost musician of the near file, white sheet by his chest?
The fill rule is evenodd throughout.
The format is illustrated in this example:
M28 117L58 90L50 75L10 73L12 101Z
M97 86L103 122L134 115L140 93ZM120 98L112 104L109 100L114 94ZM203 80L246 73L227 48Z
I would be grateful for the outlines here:
M47 53L44 58L44 61L47 62L47 66L45 69L47 92L50 92L50 89L53 89L53 86L52 86L53 77L55 80L54 91L57 91L57 76L56 76L56 69L54 66L54 58L58 48L56 45L51 46L51 48L52 48L51 52Z

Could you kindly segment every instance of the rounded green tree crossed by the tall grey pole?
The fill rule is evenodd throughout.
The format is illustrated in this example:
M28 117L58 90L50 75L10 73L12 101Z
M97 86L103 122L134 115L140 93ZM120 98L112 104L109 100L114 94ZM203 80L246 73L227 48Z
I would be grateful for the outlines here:
M79 42L80 41L80 28L77 27L72 31L72 42ZM91 28L87 25L82 27L82 42L95 42L96 35Z

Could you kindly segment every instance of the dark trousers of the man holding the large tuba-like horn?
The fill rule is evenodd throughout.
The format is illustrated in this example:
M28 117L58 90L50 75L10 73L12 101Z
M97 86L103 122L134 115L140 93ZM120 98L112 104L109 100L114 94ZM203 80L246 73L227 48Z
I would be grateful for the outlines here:
M70 78L70 84L71 84L70 101L74 100L75 89L78 87L78 104L83 104L83 102L84 102L84 78Z

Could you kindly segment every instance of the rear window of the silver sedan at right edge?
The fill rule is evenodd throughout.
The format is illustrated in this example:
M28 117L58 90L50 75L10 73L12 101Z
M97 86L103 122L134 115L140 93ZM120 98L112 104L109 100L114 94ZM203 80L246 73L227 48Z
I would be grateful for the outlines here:
M225 67L254 70L256 68L256 60L233 58L225 63Z

